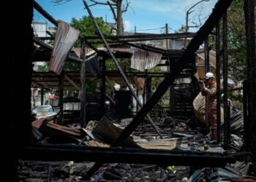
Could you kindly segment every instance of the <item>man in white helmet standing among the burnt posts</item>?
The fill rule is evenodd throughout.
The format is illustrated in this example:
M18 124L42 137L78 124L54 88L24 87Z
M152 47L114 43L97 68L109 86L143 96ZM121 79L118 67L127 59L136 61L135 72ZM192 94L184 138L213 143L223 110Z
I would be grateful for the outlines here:
M217 85L214 79L214 74L206 73L206 84L200 82L202 95L206 96L206 114L211 139L217 140Z

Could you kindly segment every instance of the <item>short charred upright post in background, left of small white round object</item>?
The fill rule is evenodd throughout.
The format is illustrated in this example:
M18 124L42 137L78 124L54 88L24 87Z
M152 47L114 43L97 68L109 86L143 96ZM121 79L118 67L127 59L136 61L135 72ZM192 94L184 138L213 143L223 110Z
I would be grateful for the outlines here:
M104 116L105 114L105 94L106 94L106 58L101 60L101 77L102 77L102 85L100 88L100 115Z

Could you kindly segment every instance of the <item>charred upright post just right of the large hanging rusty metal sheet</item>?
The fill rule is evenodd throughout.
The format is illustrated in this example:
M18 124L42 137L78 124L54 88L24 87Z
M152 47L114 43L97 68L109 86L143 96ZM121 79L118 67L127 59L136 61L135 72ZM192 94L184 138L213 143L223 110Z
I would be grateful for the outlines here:
M86 127L86 61L85 61L85 41L81 41L80 59L80 124Z

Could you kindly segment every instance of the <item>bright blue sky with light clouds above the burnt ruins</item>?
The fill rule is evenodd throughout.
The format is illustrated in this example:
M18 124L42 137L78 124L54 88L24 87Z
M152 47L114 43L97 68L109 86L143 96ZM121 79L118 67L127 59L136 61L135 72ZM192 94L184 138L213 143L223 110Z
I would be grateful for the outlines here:
M86 1L91 4L89 0ZM168 23L169 32L172 33L185 24L187 9L198 1L200 0L129 0L132 9L129 8L123 15L125 31L132 32L136 26L138 32L164 33L161 28L165 27L165 23ZM56 20L64 20L67 23L70 23L72 17L79 19L83 15L89 15L86 9L83 9L82 0L72 0L62 5L53 4L51 0L37 0L37 2ZM197 4L193 8L195 12L192 12L189 18L197 17L201 9L201 17L206 19L211 14L216 2L217 0L209 0ZM107 6L97 5L91 7L91 12L94 17L103 17L104 20L107 17L108 22L113 22L113 15ZM34 12L34 21L45 22L46 19L38 12ZM197 31L197 28L190 28L189 31Z

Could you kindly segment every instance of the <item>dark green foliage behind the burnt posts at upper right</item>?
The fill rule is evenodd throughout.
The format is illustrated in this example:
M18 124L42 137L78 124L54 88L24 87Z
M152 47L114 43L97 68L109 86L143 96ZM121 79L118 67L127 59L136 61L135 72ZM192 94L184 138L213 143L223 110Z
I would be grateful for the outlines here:
M222 21L220 22L220 31L222 35ZM227 51L229 55L228 74L235 82L243 81L246 79L244 1L233 0L230 5L227 12L227 32ZM210 40L210 45L215 50L215 40Z

